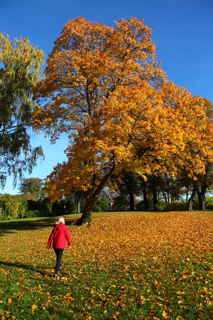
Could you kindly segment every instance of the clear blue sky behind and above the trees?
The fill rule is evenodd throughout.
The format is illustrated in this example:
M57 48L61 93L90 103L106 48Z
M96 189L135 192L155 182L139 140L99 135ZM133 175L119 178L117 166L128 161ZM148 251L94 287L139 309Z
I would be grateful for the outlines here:
M152 28L157 60L170 81L213 102L213 0L0 0L0 31L10 38L28 37L43 49L46 58L64 23L78 16L114 26L121 18L144 18ZM42 134L32 139L41 144L45 160L31 177L44 179L54 165L65 161L67 138L50 145ZM25 175L29 177L28 174ZM1 192L1 189L0 189ZM9 178L3 192L16 194Z

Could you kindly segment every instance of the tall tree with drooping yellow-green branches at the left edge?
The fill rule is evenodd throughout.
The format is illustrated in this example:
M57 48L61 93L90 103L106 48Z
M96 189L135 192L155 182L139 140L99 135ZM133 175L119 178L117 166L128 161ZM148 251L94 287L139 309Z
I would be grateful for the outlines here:
M28 38L9 40L0 32L0 185L13 175L13 185L22 172L32 172L41 146L30 144L32 89L40 77L44 53Z

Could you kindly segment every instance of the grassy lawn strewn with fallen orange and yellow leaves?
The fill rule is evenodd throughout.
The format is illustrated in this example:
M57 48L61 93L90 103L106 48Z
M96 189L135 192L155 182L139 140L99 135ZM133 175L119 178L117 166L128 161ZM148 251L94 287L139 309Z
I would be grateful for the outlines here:
M56 218L0 222L0 319L213 319L212 212L78 217L56 280Z

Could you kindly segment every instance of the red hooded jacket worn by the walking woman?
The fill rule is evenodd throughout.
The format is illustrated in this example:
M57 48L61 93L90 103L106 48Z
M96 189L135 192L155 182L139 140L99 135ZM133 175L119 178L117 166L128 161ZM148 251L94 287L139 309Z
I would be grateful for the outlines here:
M64 223L58 223L54 226L49 236L47 247L49 248L52 243L53 249L64 249L66 248L66 241L68 242L68 245L70 247L71 236L70 236L69 230L67 226L64 225Z

